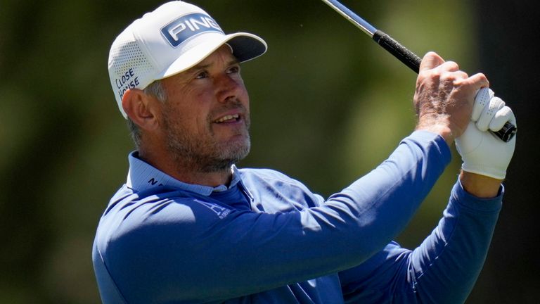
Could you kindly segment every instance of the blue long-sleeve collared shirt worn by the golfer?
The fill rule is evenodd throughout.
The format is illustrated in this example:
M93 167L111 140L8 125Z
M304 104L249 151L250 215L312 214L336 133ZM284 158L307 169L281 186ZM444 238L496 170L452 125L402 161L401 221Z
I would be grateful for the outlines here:
M414 251L392 238L449 163L414 132L368 175L324 200L274 170L233 167L229 186L179 182L130 156L101 217L93 260L104 303L463 303L501 194L456 183Z

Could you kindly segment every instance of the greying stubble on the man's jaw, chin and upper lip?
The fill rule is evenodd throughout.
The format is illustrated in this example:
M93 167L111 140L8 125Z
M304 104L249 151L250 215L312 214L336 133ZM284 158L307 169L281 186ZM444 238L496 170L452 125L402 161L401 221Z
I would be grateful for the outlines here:
M229 101L223 108L212 111L208 115L204 134L193 134L181 123L181 115L174 115L172 109L167 109L165 102L163 116L163 129L167 134L167 150L174 157L179 170L193 170L194 172L211 173L230 170L231 165L248 156L250 152L250 115L245 110L243 121L245 128L240 129L238 138L229 141L219 141L214 137L210 120L212 113L218 111L243 108L238 100Z

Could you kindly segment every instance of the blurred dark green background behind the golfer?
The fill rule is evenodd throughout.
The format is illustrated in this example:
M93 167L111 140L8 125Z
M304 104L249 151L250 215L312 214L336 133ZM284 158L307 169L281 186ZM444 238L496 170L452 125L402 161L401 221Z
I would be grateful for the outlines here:
M129 132L108 82L110 44L161 1L0 0L0 303L99 303L91 244L125 181ZM467 303L539 303L539 62L534 1L343 1L422 56L482 71L520 135L505 205ZM328 196L384 160L414 127L416 75L316 0L199 0L228 32L266 39L243 65L252 153ZM454 159L398 241L413 248L446 205Z

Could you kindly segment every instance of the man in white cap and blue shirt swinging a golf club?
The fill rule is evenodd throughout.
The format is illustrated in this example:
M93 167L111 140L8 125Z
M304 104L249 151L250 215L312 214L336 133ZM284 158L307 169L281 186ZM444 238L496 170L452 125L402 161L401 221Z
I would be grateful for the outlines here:
M515 146L487 132L515 118L482 89L486 77L426 54L416 130L325 200L280 172L234 165L250 149L240 62L264 51L259 37L226 35L181 1L113 42L110 80L137 151L96 232L103 302L463 303ZM454 140L463 170L444 217L414 251L401 248L391 240L449 163Z

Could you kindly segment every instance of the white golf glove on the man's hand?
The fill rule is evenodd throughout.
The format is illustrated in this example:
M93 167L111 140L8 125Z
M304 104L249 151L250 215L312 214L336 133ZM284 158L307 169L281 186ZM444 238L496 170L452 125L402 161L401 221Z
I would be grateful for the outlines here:
M499 131L506 122L516 127L512 109L491 89L483 88L475 98L469 125L461 137L456 139L456 148L461 155L461 169L479 175L504 179L515 148L515 137L504 142L488 132Z

